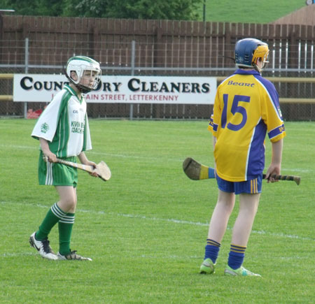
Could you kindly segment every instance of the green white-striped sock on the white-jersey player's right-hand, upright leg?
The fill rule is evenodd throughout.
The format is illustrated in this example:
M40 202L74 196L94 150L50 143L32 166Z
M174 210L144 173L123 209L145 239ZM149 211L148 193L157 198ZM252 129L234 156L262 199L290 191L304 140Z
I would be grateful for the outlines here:
M63 256L71 252L70 241L72 227L74 224L74 213L67 213L59 220L59 254Z

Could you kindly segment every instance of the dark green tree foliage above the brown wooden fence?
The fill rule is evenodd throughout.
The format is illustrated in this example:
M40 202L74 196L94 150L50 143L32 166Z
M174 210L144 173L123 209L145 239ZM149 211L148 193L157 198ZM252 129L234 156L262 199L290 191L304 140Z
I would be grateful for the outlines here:
M0 0L17 15L197 20L203 0Z

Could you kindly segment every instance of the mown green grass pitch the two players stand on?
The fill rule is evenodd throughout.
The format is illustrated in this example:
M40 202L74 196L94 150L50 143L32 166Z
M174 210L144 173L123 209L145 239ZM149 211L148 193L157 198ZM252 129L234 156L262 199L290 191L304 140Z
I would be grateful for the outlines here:
M28 239L57 201L38 186L34 120L0 120L1 303L312 303L314 301L314 122L286 122L282 174L264 182L244 266L257 277L225 277L231 227L216 274L199 275L214 180L189 180L182 162L213 166L207 121L90 120L93 150L112 178L79 172L71 249L92 262L48 261ZM266 166L270 161L266 140ZM57 227L50 244L58 249Z

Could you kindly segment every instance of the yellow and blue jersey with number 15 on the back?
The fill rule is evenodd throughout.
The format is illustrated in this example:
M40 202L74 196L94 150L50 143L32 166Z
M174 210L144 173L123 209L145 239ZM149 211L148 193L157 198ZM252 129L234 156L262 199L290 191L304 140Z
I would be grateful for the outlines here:
M242 182L262 174L266 133L272 142L286 136L272 82L254 70L235 71L218 86L208 129L217 138L214 159L220 178Z

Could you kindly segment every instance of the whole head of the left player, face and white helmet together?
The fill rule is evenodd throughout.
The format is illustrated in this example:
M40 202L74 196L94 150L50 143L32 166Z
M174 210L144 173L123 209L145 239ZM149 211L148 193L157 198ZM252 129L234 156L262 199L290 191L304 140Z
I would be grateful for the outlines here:
M75 78L72 72L76 73ZM99 63L90 57L71 57L66 64L66 78L82 93L96 89L101 81L101 75Z

